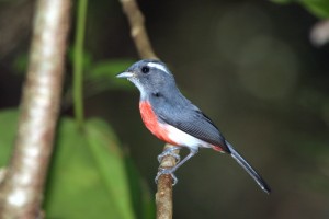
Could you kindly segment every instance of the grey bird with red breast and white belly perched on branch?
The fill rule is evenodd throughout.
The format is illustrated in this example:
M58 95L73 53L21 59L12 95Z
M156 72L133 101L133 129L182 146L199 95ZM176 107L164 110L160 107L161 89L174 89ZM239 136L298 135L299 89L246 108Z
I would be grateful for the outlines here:
M181 93L164 62L141 59L116 77L127 79L137 87L140 93L139 111L145 126L157 138L173 146L159 154L158 160L160 162L163 157L173 155L178 162L171 169L160 169L156 181L162 174L171 174L174 185L178 181L174 172L195 155L200 148L209 148L234 158L262 191L270 194L270 186L224 138L213 120ZM182 148L188 148L190 152L180 160L173 151Z

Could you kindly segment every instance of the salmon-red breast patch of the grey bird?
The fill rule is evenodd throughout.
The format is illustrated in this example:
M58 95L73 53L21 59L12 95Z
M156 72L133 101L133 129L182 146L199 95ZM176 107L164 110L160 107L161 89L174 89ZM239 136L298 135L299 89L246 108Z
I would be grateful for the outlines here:
M160 124L158 122L158 117L155 114L151 105L147 101L139 102L139 111L141 115L141 119L145 126L159 139L177 146L178 143L174 142L169 138L168 129L166 128L166 124Z

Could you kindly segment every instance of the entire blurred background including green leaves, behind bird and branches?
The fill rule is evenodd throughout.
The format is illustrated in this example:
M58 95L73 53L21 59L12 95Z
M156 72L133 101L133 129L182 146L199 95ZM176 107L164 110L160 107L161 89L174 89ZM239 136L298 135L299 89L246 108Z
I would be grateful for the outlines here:
M139 3L155 49L183 93L273 188L266 196L230 158L202 150L178 172L174 218L328 218L329 54L328 45L310 44L309 32L329 16L329 2ZM3 166L14 139L33 2L0 5ZM70 39L46 217L155 218L156 157L163 145L141 125L137 90L114 78L138 59L120 3L90 1L86 27L88 119L83 132L77 129Z

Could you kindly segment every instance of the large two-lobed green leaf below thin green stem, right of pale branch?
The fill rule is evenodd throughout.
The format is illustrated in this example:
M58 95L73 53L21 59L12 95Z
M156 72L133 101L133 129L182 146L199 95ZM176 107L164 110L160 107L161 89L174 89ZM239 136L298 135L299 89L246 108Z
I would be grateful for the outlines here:
M122 152L101 120L87 122L83 134L61 119L48 182L47 218L135 218Z

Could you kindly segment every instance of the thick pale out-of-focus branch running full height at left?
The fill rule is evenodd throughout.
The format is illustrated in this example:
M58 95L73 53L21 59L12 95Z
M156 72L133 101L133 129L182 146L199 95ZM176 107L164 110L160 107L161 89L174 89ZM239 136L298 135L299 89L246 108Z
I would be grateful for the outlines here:
M38 0L14 151L0 185L0 218L35 219L59 111L70 1Z

